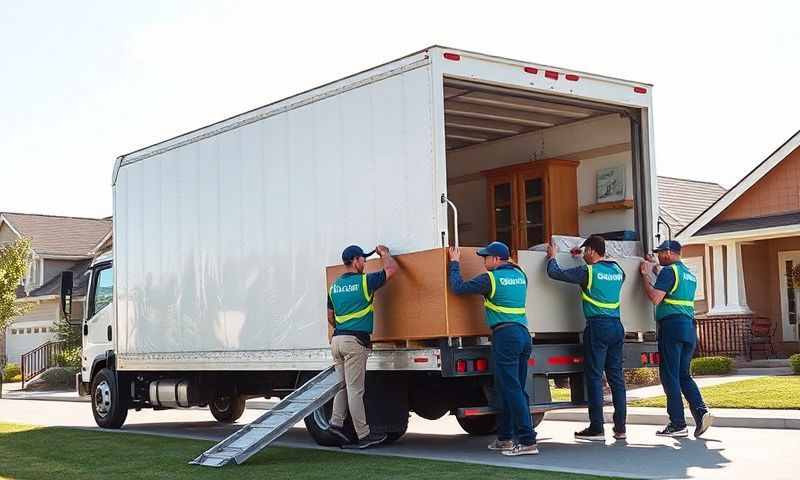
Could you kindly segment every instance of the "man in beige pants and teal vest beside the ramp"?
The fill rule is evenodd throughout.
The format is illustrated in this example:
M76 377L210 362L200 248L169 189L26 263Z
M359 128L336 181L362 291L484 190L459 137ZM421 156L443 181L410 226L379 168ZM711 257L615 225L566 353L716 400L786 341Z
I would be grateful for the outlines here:
M383 270L364 273L366 257L377 252L383 261ZM383 245L365 253L361 247L350 245L342 252L342 262L347 272L337 278L328 292L328 323L334 328L331 351L336 372L345 387L333 399L329 431L339 437L344 448L369 448L386 440L386 434L372 433L364 409L364 381L367 357L370 352L370 334L373 329L375 291L397 272L397 262ZM353 419L358 442L342 430L347 411Z

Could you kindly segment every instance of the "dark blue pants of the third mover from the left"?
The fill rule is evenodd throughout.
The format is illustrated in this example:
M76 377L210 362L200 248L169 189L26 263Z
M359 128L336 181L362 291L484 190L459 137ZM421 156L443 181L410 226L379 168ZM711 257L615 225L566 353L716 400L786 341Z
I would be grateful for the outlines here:
M625 431L627 407L625 377L622 375L622 346L625 329L618 318L593 317L583 331L584 371L589 400L589 428L603 431L603 372L614 401L614 431Z

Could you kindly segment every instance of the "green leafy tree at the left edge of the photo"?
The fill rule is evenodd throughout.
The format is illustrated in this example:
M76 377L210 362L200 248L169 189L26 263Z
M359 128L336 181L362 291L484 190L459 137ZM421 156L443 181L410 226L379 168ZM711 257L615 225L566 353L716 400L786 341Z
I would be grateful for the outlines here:
M20 315L30 310L27 303L17 302L17 287L28 270L31 242L22 238L14 243L0 247L0 336L3 350L0 355L0 371L5 367L5 331ZM0 394L2 394L2 375L0 375Z

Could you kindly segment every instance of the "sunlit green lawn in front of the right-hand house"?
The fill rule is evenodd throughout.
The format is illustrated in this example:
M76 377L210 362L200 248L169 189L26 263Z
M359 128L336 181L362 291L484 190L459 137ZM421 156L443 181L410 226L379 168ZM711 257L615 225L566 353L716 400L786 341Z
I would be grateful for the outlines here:
M800 409L800 376L764 377L701 388L703 400L716 408ZM634 407L666 407L660 397L635 400Z

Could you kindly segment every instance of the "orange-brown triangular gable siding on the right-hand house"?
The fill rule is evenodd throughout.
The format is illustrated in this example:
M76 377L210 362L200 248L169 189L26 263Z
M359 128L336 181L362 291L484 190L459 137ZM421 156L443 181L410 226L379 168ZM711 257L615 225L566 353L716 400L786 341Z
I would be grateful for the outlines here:
M750 187L711 224L800 210L800 149Z

